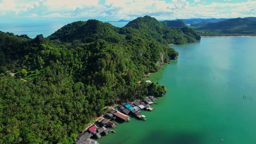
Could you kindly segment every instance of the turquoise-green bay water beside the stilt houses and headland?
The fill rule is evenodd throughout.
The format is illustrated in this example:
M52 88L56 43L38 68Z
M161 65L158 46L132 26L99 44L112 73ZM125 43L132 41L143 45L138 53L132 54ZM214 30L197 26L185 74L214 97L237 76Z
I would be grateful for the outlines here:
M98 141L256 144L255 43L256 37L213 37L172 46L179 58L149 78L166 85L167 94L154 111L142 112L147 121L131 118Z

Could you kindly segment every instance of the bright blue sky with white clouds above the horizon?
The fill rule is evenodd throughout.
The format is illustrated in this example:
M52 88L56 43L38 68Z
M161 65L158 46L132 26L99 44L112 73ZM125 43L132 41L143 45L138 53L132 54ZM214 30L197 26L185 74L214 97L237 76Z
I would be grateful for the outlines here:
M256 0L0 0L0 23L256 17Z

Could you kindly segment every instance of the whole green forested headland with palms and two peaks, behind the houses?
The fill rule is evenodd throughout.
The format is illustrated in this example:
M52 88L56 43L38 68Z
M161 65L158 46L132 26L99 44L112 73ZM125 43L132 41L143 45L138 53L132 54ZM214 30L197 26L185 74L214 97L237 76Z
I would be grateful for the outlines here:
M0 143L71 144L105 106L163 94L142 77L177 58L167 43L196 39L150 16L123 28L74 22L48 38L0 32Z

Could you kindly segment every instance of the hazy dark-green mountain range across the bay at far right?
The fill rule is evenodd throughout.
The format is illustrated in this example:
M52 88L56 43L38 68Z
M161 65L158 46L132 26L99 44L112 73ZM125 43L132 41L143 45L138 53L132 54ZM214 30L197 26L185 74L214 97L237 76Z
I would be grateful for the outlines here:
M253 18L235 18L218 23L198 23L190 26L196 30L230 35L256 35L256 21ZM203 34L204 35L204 34Z

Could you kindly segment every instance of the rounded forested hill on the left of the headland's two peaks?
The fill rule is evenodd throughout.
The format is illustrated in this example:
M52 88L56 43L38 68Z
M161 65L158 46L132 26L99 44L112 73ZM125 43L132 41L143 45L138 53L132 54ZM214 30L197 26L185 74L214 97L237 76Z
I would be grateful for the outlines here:
M105 39L108 42L118 43L121 35L118 34L118 27L110 23L102 23L98 20L78 21L63 26L49 36L50 39L59 39L64 42L80 40L83 43L90 43L96 39Z

